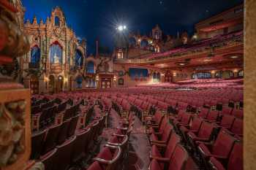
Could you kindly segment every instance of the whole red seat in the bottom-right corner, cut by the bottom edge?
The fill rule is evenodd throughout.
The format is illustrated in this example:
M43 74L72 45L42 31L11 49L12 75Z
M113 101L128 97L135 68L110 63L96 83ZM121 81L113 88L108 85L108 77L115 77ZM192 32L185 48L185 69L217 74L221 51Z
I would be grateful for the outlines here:
M210 158L209 164L211 169L214 170L242 170L243 169L243 144L241 142L236 142L233 146L233 150L230 153L228 159L227 167L222 165L222 163L214 157Z

